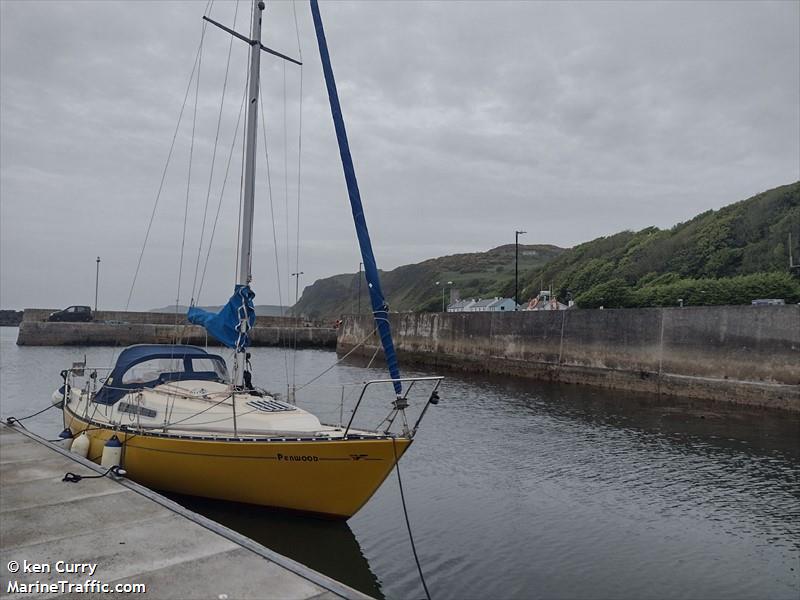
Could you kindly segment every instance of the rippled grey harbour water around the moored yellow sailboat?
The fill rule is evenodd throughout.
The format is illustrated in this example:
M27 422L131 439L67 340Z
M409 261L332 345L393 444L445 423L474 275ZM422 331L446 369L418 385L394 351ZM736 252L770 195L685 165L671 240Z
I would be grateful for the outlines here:
M4 419L47 406L59 371L84 355L113 361L113 348L17 347L16 335L0 328ZM302 384L333 366L297 396L327 421L340 418L342 384L385 377L334 366L333 352L252 353L254 382L278 392L293 372ZM800 414L443 374L441 403L400 462L434 598L798 597ZM54 438L61 415L25 425ZM173 498L367 594L423 597L394 473L347 523Z

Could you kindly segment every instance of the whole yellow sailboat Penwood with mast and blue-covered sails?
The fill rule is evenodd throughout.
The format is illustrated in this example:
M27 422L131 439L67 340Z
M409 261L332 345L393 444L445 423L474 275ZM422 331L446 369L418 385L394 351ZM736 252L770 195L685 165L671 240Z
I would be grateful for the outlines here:
M346 425L324 424L252 384L246 349L255 322L250 283L259 57L264 50L297 62L261 43L263 10L263 2L253 3L249 37L204 17L250 45L237 284L219 313L192 307L188 314L192 323L204 326L233 350L232 375L221 356L203 348L137 345L120 353L106 377L98 377L98 371L85 364L65 370L64 385L54 401L63 406L62 435L74 452L108 467L119 465L149 487L348 518L369 500L411 445L428 407L438 402L442 378L400 376L319 7L311 0L376 331L390 377L364 384ZM356 428L353 423L362 400L380 386L391 386L394 393L388 416L375 429ZM418 418L410 425L406 409L412 388L424 395ZM399 431L392 432L395 423Z

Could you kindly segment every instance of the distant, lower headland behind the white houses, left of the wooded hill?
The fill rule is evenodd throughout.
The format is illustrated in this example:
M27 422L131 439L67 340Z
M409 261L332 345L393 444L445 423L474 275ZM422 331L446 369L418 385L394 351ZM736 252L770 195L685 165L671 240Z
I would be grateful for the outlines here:
M564 252L550 245L519 247L520 286L522 274L540 268ZM463 298L493 297L514 288L514 245L500 246L487 252L454 254L432 258L392 271L381 271L381 284L393 311L439 311L442 288L436 282L452 281ZM513 293L513 292L512 292ZM447 295L447 292L445 292ZM361 311L367 313L369 296L361 285ZM358 273L334 275L308 286L295 305L295 314L311 318L337 317L358 311Z

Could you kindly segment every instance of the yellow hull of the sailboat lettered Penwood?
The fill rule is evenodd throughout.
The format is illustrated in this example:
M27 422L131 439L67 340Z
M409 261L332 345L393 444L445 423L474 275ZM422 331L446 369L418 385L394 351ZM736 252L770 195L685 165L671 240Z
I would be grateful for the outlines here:
M100 461L112 435L123 444L128 477L147 487L347 519L378 489L407 438L218 440L115 432L69 410L67 426L86 430L88 457ZM87 429L88 428L88 429ZM394 447L393 447L394 446Z

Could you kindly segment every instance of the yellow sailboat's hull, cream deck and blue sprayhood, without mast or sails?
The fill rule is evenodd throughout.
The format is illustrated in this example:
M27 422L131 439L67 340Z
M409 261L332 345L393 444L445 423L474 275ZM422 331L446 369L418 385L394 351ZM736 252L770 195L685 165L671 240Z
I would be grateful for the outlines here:
M121 464L148 487L193 496L348 518L415 432L324 425L297 406L232 385L222 357L194 346L131 346L95 392L68 377L57 399L74 451ZM421 379L438 386L437 378ZM107 458L117 442L118 458Z

